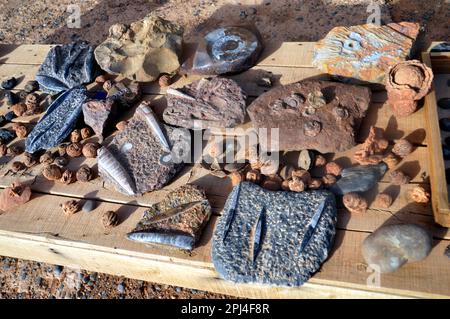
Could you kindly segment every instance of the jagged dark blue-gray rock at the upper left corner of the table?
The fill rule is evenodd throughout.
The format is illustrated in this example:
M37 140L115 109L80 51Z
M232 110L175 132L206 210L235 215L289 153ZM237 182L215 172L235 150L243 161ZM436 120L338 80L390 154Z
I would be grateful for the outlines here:
M91 83L98 67L94 48L85 42L53 47L36 75L42 91L58 93Z

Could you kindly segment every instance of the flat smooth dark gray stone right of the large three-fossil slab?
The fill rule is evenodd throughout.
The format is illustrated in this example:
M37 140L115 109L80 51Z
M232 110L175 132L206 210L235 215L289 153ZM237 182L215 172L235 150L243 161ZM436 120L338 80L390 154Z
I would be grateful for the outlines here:
M354 166L342 170L341 179L330 187L337 195L352 192L367 192L384 176L387 165L381 162L377 165Z

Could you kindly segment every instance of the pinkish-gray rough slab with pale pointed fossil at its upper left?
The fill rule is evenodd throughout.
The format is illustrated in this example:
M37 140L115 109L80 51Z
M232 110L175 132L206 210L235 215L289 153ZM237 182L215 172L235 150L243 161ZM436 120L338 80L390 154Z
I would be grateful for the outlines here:
M244 123L246 94L233 80L215 77L167 90L164 121L189 129Z

